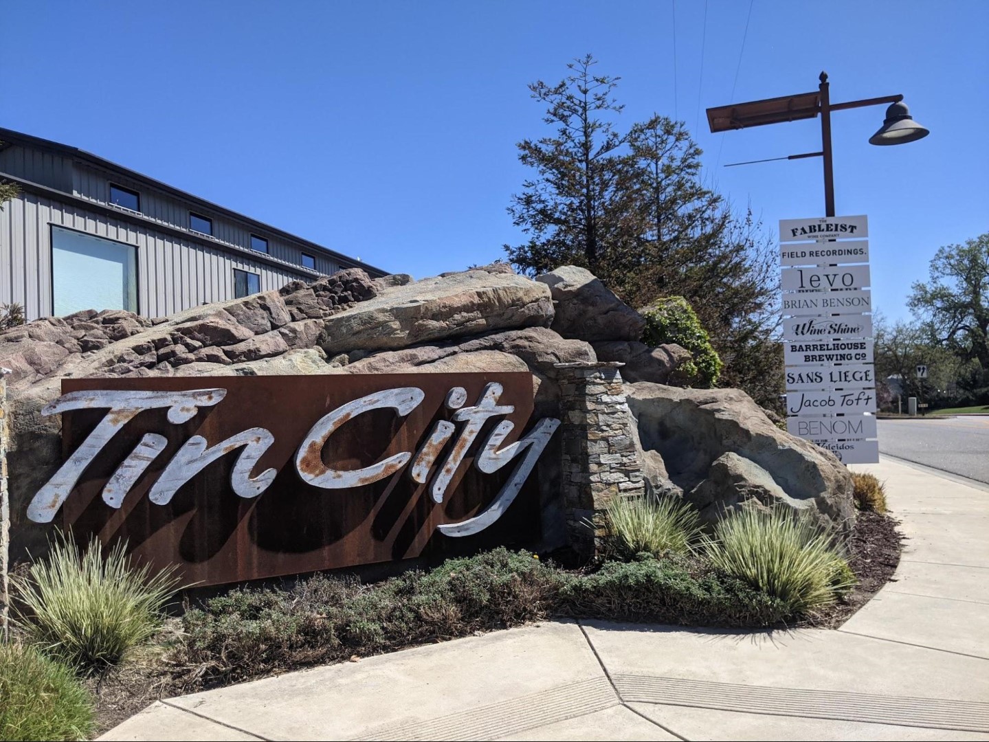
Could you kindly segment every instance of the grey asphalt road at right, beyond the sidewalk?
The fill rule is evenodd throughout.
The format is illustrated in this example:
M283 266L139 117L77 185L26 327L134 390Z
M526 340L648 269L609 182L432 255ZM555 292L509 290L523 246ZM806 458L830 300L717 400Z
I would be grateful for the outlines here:
M989 416L879 420L879 453L989 484Z

